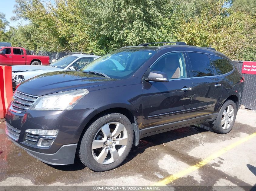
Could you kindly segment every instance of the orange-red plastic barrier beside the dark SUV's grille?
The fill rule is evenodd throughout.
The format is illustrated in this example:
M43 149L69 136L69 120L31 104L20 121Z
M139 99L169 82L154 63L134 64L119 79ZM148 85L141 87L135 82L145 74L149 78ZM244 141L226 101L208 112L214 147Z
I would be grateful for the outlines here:
M0 118L4 118L5 112L12 100L12 66L0 66Z

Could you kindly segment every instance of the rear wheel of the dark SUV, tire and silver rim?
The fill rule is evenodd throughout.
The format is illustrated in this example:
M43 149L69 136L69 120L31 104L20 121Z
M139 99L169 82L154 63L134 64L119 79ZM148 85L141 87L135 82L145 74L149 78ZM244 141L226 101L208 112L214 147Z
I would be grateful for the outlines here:
M231 131L237 114L236 104L232 100L227 100L221 107L211 128L214 132L226 134Z

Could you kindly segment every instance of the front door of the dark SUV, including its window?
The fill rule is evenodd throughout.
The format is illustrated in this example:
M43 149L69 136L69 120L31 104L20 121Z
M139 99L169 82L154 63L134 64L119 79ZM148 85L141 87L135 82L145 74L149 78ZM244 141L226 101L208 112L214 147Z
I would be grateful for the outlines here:
M187 123L193 84L185 58L183 52L167 53L150 68L165 72L169 82L143 82L142 134Z

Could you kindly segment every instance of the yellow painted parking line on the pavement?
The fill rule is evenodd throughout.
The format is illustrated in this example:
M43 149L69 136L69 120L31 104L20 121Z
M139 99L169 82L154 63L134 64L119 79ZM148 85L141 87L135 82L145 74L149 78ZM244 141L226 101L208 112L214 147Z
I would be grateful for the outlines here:
M237 142L234 142L233 144L231 144L231 145L229 145L229 146L227 146L227 147L225 147L225 148L223 148L223 149L221 149L221 150L219 150L219 151L217 151L213 154L211 154L209 157L205 158L203 161L201 161L201 162L199 162L199 163L197 163L197 164L195 164L191 167L188 167L185 170L182 170L178 173L175 173L175 174L173 174L169 177L164 178L163 180L155 183L154 185L155 186L165 186L165 185L173 182L174 180L177 180L178 178L184 177L186 174L191 173L192 171L197 170L200 167L203 167L204 165L211 162L214 158L217 158L217 157L221 156L222 154L229 151L230 149L242 144L243 142L246 142L246 141L250 140L251 138L253 138L255 136L256 136L256 132L247 136L247 137L244 137L244 138L240 139Z

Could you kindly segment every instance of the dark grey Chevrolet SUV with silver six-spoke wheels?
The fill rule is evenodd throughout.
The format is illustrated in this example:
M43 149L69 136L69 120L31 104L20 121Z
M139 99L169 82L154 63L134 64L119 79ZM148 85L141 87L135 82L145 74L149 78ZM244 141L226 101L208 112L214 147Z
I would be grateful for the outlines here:
M122 65L118 68L115 63ZM5 115L6 134L48 164L118 167L139 140L196 123L231 131L244 78L212 48L130 46L79 71L22 82Z

